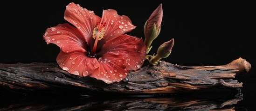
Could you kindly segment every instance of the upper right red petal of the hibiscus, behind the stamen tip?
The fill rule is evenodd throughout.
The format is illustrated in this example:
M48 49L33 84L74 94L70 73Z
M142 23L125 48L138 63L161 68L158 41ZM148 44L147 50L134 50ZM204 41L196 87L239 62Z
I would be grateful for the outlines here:
M103 11L102 22L106 23L104 41L108 41L113 37L125 34L136 28L132 25L131 20L125 15L118 15L118 12L113 9Z

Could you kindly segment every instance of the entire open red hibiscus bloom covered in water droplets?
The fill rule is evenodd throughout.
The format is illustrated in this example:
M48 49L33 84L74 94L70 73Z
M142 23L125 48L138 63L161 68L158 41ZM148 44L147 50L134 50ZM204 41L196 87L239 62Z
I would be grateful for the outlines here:
M59 24L43 36L48 44L60 47L56 61L63 70L112 83L141 68L146 46L142 39L125 34L136 27L127 16L108 9L100 18L78 4L66 7L64 19L76 28Z

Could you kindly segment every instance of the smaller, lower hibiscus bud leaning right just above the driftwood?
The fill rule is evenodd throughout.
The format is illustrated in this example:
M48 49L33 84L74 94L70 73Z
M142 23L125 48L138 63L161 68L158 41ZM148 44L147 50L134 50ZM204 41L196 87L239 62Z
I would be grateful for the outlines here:
M168 57L172 52L173 45L174 39L160 45L157 50L157 55L152 57L150 63L157 64L160 59Z

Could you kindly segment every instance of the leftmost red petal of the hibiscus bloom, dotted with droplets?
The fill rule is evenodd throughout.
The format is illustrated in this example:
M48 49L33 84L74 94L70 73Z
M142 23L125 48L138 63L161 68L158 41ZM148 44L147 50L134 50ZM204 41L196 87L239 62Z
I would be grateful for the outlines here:
M69 24L59 24L48 28L43 35L47 44L54 43L64 52L86 52L87 43L81 32Z

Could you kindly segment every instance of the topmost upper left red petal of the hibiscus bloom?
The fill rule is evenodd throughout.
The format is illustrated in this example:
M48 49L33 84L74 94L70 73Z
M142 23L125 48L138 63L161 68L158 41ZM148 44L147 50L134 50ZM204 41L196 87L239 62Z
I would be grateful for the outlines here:
M100 21L100 17L95 15L93 11L89 11L73 2L66 6L64 19L75 25L83 33L87 43L90 43L89 41L93 39L93 29L96 27L96 23ZM93 46L93 43L89 45Z

